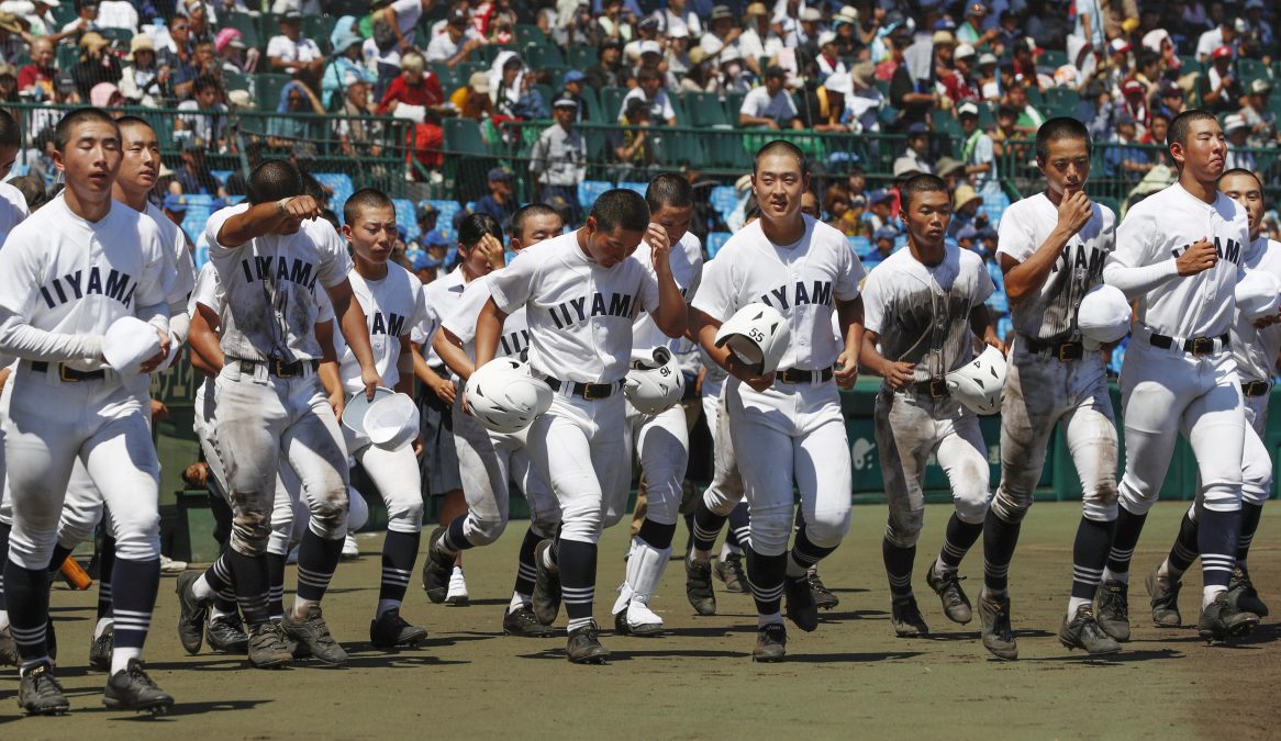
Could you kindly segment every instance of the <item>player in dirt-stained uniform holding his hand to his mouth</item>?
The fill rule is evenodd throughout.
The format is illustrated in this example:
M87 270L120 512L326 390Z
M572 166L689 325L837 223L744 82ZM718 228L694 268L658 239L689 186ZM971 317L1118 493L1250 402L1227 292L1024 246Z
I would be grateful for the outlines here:
M1091 148L1076 119L1041 124L1036 165L1045 189L1011 205L1000 219L997 255L1017 338L1000 408L1000 485L983 529L979 617L983 645L1003 659L1018 658L1009 625L1009 561L1056 426L1067 438L1082 489L1072 595L1059 637L1091 654L1120 650L1099 630L1093 609L1117 517L1116 421L1103 356L1082 344L1076 325L1081 298L1103 280L1103 262L1116 246L1116 216L1085 195Z

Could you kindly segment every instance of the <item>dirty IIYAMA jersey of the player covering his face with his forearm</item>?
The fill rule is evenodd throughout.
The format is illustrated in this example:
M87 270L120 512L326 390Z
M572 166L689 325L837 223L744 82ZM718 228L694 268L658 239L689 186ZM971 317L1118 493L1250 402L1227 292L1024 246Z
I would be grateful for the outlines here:
M347 247L324 219L304 220L293 234L224 247L218 242L223 224L249 209L249 203L222 209L205 227L209 260L227 294L223 352L243 360L319 360L316 294L347 279Z

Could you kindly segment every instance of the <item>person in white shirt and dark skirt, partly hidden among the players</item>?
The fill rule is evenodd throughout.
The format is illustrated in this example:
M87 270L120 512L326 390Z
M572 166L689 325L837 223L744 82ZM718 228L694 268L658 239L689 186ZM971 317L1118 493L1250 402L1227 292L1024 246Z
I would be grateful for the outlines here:
M420 330L416 342L428 348L425 360L415 361L419 379L423 380L423 461L427 467L427 488L433 495L443 497L441 503L441 523L428 538L428 552L445 536L446 527L461 516L466 516L466 497L460 476L457 444L453 435L453 404L457 401L457 386L450 370L433 346L436 330L445 317L452 315L459 306L462 292L477 278L488 275L494 267L502 266L502 229L492 218L485 221L484 214L471 214L462 220L459 229L459 266L445 278L428 284L427 301L428 323ZM477 237L477 242L464 242L462 227ZM494 238L497 233L497 239ZM484 237L489 237L484 239ZM420 356L421 357L421 356ZM438 380L443 379L443 380ZM455 544L457 545L457 544ZM462 576L462 555L455 552L455 561L442 571L438 559L423 561L423 589L427 598L439 604L465 607L469 603L468 582Z

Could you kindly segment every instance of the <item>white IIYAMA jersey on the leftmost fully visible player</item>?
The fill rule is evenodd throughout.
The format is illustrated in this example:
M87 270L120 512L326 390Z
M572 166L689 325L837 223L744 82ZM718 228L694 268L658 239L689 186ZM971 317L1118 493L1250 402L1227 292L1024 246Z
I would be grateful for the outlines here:
M0 349L97 370L115 320L136 316L168 330L173 282L155 221L114 201L86 221L59 196L0 250Z

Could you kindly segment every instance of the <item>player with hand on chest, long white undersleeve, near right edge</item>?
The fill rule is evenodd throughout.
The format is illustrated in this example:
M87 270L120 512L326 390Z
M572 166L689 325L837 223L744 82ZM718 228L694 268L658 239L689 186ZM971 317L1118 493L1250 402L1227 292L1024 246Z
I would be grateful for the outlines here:
M1243 275L1249 218L1218 192L1227 145L1213 114L1187 110L1170 124L1179 182L1135 205L1117 229L1103 279L1138 299L1121 367L1126 465L1121 509L1095 612L1113 639L1130 639L1130 558L1157 500L1177 435L1200 468L1196 545L1204 587L1200 635L1226 640L1259 617L1227 599L1236 567L1245 412L1228 344L1234 288Z

